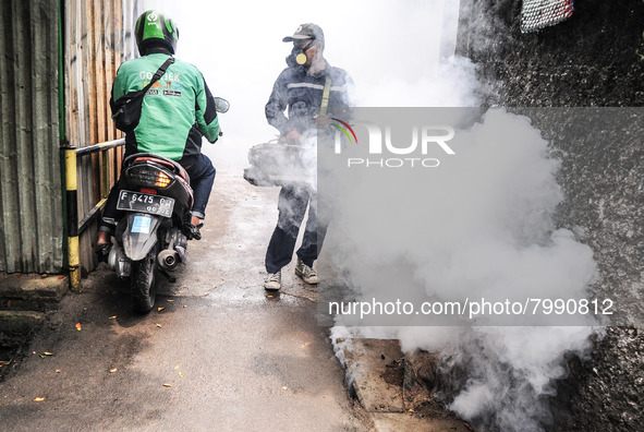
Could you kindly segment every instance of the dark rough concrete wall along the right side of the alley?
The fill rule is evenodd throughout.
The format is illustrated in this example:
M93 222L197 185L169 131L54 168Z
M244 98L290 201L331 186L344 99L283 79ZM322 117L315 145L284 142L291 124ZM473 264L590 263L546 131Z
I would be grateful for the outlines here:
M478 64L493 92L488 104L527 107L642 107L644 2L575 1L571 19L521 34L520 0L462 0L458 52ZM622 113L627 111L620 111ZM564 124L534 119L562 159L566 202L558 224L582 232L595 252L592 296L618 296L624 321L644 301L644 133L628 125L623 140L564 136ZM593 123L591 115L588 124ZM581 229L580 229L581 227ZM644 334L613 326L554 400L559 430L639 430L644 423ZM562 412L569 410L570 417Z

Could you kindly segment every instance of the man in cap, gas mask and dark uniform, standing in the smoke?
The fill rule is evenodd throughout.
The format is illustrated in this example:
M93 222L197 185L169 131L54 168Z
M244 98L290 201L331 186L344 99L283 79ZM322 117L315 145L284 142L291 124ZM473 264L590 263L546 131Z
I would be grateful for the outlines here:
M325 60L325 36L319 26L302 24L295 34L282 41L292 41L293 50L287 57L289 67L280 73L272 87L265 108L266 118L279 130L282 140L300 144L303 132L324 124L327 109L332 111L351 105L353 81L345 71L331 67ZM264 288L267 290L281 288L281 269L291 262L307 206L308 220L302 245L296 252L295 274L306 284L317 284L313 263L321 248L327 223L320 221L318 227L317 191L314 187L287 184L282 185L279 194L278 223L266 251L268 276Z

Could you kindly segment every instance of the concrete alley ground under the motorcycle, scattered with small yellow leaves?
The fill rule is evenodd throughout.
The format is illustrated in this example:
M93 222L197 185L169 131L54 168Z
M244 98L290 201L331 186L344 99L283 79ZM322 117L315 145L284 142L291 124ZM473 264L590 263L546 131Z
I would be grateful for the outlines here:
M218 167L202 241L149 315L104 264L66 296L0 383L10 431L365 431L316 290L284 271L267 296L276 188Z

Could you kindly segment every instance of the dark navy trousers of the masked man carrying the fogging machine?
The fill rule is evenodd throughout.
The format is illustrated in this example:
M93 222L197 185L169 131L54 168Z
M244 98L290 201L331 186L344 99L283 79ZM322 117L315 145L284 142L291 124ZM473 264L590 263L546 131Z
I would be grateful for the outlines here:
M317 260L328 226L327 221L318 223L317 194L308 187L282 187L277 205L277 227L266 251L265 264L268 273L277 273L291 262L307 206L308 220L297 256L309 267Z

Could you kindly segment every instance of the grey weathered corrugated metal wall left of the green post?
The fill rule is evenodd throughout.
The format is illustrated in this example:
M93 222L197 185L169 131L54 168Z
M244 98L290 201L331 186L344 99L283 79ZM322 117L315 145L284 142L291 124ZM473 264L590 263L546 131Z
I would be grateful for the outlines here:
M57 0L0 10L0 271L63 266Z

